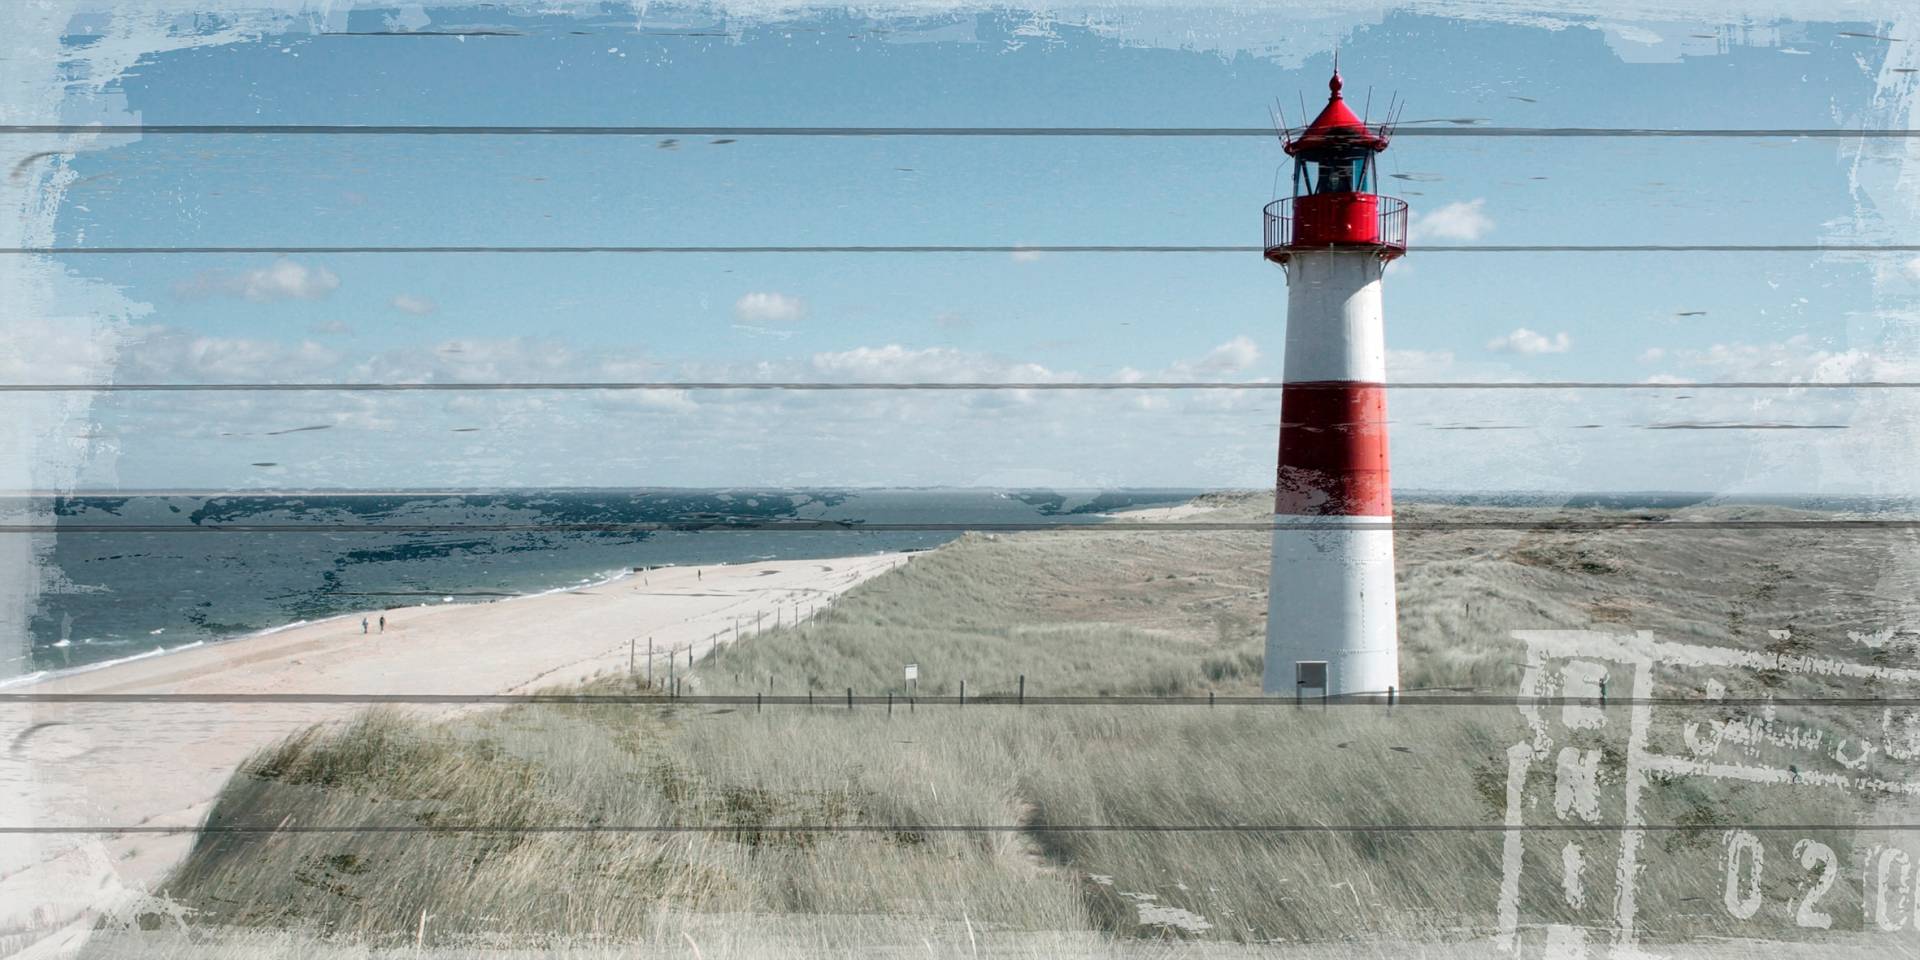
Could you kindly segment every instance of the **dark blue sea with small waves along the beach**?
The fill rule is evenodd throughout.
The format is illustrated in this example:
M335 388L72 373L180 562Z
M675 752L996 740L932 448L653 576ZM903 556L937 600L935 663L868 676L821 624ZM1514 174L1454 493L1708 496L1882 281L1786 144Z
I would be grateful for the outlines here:
M42 591L29 647L0 655L0 682L359 611L568 589L637 566L929 549L960 532L916 524L1100 522L1104 511L1181 503L1194 493L513 490L58 497L50 501L56 534L42 538ZM835 520L851 530L766 528L781 520ZM660 522L699 528L618 528Z

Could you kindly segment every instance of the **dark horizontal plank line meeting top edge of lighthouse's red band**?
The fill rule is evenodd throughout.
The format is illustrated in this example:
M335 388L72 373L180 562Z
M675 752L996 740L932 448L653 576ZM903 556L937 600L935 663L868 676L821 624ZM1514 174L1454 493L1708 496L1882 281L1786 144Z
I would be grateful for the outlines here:
M1388 390L1912 390L1920 380L1390 380ZM0 394L463 392L463 390L1346 390L1281 380L526 380L288 384L0 384Z

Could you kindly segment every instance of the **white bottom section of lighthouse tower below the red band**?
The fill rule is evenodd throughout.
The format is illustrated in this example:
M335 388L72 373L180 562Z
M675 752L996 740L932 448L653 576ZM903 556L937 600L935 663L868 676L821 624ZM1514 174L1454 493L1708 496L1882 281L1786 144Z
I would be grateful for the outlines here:
M1319 676L1325 689L1311 685ZM1386 687L1400 687L1392 518L1275 516L1261 691L1317 699Z

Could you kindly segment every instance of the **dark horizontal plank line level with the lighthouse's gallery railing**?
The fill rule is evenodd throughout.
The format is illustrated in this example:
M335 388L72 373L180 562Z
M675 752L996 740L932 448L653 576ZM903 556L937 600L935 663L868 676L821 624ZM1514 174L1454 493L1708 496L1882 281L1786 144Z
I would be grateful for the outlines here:
M1409 253L1914 253L1920 244L1444 244ZM15 246L0 255L246 253L1261 253L1258 244L269 244Z

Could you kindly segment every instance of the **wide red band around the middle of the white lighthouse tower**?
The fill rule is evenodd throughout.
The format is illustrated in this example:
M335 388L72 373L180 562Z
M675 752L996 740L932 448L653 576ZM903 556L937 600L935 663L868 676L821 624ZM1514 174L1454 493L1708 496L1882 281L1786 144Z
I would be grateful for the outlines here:
M1304 382L1281 388L1281 467L1273 513L1388 516L1386 388Z

